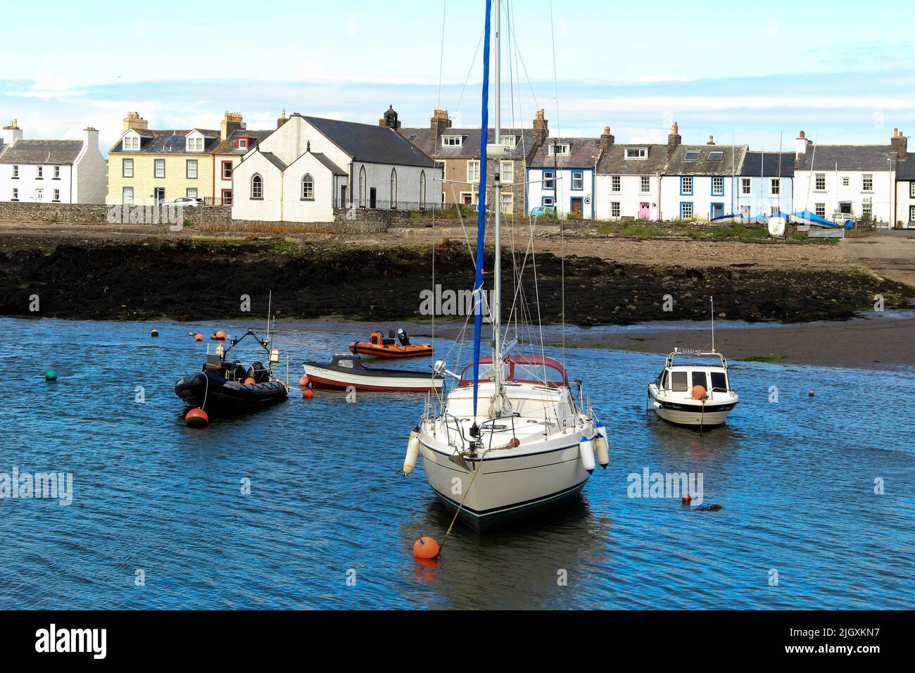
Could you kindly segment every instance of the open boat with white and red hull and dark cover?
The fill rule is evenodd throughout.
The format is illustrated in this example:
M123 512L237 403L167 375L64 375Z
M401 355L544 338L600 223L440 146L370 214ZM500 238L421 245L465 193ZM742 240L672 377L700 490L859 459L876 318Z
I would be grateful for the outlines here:
M444 376L431 369L428 372L407 372L399 369L366 367L359 355L337 353L328 364L315 361L302 365L308 381L316 388L347 390L407 390L427 392L440 390Z

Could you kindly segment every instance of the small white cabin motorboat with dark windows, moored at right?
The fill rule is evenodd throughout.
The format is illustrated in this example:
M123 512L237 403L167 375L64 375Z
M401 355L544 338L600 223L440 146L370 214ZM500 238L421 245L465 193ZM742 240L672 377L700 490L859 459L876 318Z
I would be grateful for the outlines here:
M696 362L674 362L674 358L680 357ZM662 373L648 385L648 399L655 413L664 420L700 428L722 425L739 402L737 393L730 387L727 360L714 348L674 349L667 356Z

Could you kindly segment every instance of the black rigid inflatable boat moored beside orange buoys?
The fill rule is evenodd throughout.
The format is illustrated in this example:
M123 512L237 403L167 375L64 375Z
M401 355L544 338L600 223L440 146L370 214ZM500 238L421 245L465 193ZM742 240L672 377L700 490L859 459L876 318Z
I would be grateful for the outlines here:
M230 360L232 349L248 336L253 337L267 353L266 367L260 361L242 363ZM175 384L175 395L184 400L187 407L207 412L231 413L279 402L289 392L286 383L274 377L273 367L279 363L279 357L280 352L270 348L269 337L261 339L253 330L245 331L238 339L230 340L229 348L220 343L216 352L210 353L208 345L203 370L199 374L179 378Z

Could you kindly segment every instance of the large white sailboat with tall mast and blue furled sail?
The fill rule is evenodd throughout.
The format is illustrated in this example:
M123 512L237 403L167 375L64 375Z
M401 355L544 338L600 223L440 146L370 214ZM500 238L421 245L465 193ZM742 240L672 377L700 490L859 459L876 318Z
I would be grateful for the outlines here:
M487 0L484 35L482 128L489 126L489 28L493 23L496 60L495 144L481 135L481 157L504 156L501 146L500 5ZM480 354L482 329L483 238L488 162L480 162L479 221L474 283L474 358L461 374L436 363L449 389L429 397L425 413L410 436L404 473L422 458L426 480L436 496L468 525L501 526L578 494L596 462L609 462L606 429L597 421L580 382L576 393L557 360L541 354L511 352L517 340L503 342L501 316L501 184L493 180L496 207L493 292L490 311L491 354ZM511 321L511 320L510 320ZM489 340L487 340L489 341ZM597 456L597 461L596 461Z

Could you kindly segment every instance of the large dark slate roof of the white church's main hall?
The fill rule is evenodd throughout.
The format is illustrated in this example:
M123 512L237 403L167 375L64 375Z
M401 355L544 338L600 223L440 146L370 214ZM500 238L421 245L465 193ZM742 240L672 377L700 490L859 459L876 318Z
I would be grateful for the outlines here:
M436 162L393 128L300 115L355 161L434 168Z

